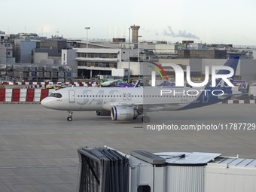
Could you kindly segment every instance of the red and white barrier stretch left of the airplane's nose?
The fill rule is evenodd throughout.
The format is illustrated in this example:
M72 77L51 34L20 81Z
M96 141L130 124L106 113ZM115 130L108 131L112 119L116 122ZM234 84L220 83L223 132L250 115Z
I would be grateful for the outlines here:
M41 102L53 89L0 89L0 102Z

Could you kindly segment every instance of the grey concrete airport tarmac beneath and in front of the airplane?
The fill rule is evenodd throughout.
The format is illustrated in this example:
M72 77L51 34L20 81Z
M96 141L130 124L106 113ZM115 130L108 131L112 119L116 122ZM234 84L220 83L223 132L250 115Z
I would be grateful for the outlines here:
M0 109L1 192L76 191L77 149L84 146L108 145L125 154L136 149L198 151L256 159L256 130L252 127L256 123L255 104L154 112L148 114L150 123L142 123L141 117L113 121L96 116L94 111L75 111L73 121L68 122L67 111L53 111L39 104L0 104ZM240 130L236 128L239 123L245 123ZM147 130L160 125L224 129Z

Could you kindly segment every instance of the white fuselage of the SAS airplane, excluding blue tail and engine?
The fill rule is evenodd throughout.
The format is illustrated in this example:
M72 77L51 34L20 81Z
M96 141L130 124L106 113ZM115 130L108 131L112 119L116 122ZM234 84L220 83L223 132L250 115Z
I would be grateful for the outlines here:
M172 90L172 93L163 90ZM41 104L65 111L110 111L114 105L145 105L148 111L177 110L194 102L202 93L193 90L187 87L70 87L53 92L61 94L61 97L48 96Z

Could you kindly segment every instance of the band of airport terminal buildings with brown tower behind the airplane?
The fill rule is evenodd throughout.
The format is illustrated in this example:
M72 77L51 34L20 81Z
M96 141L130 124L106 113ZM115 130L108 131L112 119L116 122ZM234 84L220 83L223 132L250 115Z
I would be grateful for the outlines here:
M30 67L31 64L46 66L46 69L47 66L69 66L72 69L71 78L75 79L90 79L99 75L125 78L127 74L141 78L151 76L153 62L160 66L163 63L175 63L185 73L186 66L190 66L191 76L203 78L205 66L222 66L229 56L240 56L236 78L256 81L256 59L251 49L235 49L232 44L202 44L194 41L182 41L182 44L140 41L140 27L131 26L131 29L133 35L130 43L126 38L113 38L112 42L87 42L66 40L59 36L44 38L34 33L8 35L1 32L0 64L6 67L2 67L0 78L17 81L12 79L17 76L14 75L16 66ZM173 69L164 67L164 70L170 79L175 78ZM27 76L23 72L18 72L20 77ZM10 75L11 78L8 78ZM62 79L59 78L59 81ZM160 74L158 79L161 79ZM50 79L44 77L40 80Z

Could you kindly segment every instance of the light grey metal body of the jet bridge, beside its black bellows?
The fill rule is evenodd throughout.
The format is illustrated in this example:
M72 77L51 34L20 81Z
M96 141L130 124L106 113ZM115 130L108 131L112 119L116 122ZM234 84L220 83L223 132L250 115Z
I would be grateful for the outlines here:
M129 158L130 192L256 191L256 160L253 159L200 152L152 154L136 150L130 156L118 153Z

